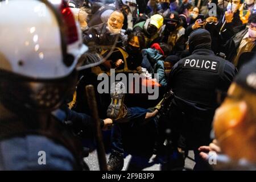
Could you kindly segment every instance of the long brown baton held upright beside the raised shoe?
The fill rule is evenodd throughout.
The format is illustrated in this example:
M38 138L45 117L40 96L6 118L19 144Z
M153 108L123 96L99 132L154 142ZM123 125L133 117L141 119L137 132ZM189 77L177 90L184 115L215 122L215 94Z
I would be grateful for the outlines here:
M92 112L92 117L94 120L94 129L95 129L94 133L96 135L96 142L97 142L98 164L100 166L101 171L108 171L108 167L106 164L105 148L104 148L102 133L101 133L100 118L98 117L98 108L97 108L94 87L93 85L88 85L85 87L85 90L86 90L88 105L90 107L90 111Z

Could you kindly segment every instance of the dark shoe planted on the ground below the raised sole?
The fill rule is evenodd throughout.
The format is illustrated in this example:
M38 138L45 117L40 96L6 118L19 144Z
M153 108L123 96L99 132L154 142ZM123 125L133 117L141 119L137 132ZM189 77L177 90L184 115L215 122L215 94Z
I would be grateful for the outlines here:
M109 156L107 167L109 171L121 171L123 168L123 154L113 151Z

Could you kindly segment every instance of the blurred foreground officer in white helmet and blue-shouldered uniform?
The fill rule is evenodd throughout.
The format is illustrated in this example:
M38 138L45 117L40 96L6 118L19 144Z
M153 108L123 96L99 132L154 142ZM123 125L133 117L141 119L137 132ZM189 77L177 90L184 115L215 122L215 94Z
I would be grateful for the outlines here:
M80 143L51 115L73 93L87 49L71 10L14 0L0 16L0 169L82 169Z

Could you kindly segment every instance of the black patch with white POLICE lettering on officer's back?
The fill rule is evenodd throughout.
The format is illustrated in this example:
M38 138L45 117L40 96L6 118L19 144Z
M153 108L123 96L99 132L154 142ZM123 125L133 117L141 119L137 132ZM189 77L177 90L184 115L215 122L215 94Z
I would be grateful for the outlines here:
M185 59L182 68L199 69L208 72L218 72L220 62L209 59Z

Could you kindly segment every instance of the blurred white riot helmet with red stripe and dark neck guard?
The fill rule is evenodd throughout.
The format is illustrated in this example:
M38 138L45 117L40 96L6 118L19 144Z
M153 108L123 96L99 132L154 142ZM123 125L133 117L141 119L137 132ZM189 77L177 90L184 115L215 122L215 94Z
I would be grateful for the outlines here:
M87 50L71 10L61 0L12 0L1 2L0 17L1 103L55 109L75 87Z

